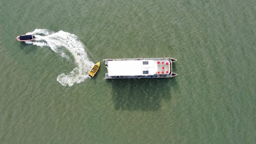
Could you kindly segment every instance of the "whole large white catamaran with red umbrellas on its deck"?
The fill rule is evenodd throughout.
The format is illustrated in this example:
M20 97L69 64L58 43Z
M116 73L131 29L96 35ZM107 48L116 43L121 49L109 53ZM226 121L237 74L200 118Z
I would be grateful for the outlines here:
M108 68L105 78L153 78L172 77L171 58L106 59Z

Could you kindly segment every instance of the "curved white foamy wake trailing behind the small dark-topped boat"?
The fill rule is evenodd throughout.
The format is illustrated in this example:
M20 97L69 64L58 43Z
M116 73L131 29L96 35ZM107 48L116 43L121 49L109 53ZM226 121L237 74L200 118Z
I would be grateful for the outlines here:
M94 64L89 60L84 50L85 46L77 36L62 30L55 33L47 29L36 29L31 33L36 37L35 41L26 41L25 43L41 47L49 46L61 57L71 61L69 56L63 51L63 47L65 47L74 57L76 68L69 74L60 74L57 77L57 81L60 82L60 84L63 86L72 86L74 83L83 82L90 77L88 74Z

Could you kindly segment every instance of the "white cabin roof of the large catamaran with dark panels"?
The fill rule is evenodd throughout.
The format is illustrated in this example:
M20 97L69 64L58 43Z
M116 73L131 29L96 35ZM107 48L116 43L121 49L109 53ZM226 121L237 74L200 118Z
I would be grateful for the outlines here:
M108 61L108 76L141 76L156 73L157 62L154 60Z

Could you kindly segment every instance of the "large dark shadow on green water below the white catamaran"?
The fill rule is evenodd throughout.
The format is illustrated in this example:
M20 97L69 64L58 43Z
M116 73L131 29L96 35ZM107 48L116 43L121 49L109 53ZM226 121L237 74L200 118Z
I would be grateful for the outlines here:
M162 100L171 100L171 87L176 85L172 78L127 78L108 79L113 86L116 110L156 111Z

